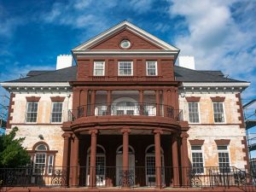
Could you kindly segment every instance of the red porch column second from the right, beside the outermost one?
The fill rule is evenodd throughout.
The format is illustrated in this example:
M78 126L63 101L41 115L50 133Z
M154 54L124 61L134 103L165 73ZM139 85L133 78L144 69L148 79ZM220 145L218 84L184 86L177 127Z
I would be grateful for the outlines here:
M172 166L173 166L173 187L179 186L177 135L172 136Z

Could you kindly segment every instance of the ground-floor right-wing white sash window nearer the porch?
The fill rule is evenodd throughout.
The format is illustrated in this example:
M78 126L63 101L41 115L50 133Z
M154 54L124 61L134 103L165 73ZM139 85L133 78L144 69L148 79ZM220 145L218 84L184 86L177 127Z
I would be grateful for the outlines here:
M192 145L192 167L194 172L203 173L204 172L204 160L202 154L202 146Z

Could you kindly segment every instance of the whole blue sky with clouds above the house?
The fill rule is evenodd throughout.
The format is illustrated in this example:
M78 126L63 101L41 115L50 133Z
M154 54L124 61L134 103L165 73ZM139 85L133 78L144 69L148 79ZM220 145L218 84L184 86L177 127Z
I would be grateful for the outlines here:
M196 69L250 81L242 98L256 97L255 0L0 0L0 81L54 70L57 55L123 20L194 55Z

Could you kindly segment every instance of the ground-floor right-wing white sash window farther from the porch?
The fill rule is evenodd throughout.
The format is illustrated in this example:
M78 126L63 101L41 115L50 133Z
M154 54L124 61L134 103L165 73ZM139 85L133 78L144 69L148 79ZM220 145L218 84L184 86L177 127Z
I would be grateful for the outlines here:
M219 172L230 172L230 153L228 146L218 146Z

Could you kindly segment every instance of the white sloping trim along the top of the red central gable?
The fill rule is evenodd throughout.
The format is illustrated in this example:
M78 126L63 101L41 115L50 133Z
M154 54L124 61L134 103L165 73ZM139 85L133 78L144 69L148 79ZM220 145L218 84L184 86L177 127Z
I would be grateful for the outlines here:
M167 44L162 41L160 38L156 38L154 35L144 31L143 29L131 24L131 22L124 20L116 26L109 28L107 31L100 33L94 38L91 38L89 41L86 41L84 44L80 44L78 47L72 49L73 52L86 50L90 48L92 45L101 42L103 39L110 37L116 32L123 30L124 28L130 30L131 32L136 33L138 36L148 39L153 44L157 44L159 47L165 50L179 51L176 47L171 44Z

